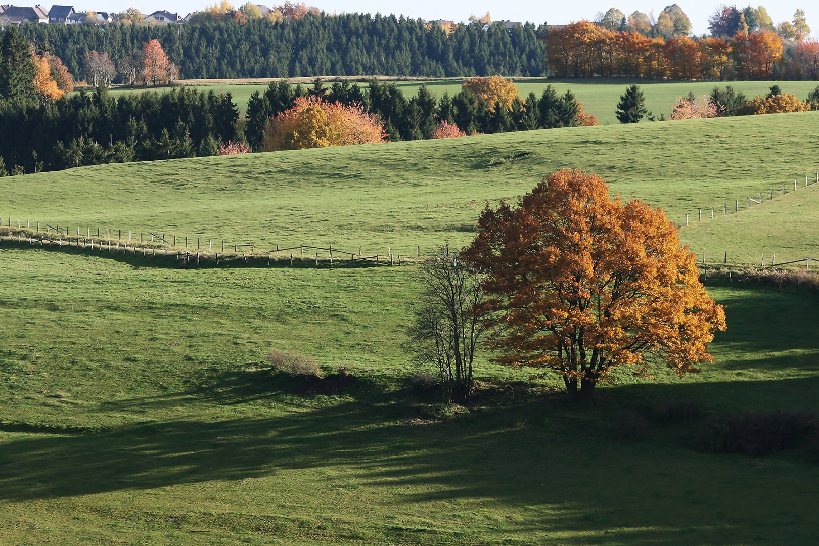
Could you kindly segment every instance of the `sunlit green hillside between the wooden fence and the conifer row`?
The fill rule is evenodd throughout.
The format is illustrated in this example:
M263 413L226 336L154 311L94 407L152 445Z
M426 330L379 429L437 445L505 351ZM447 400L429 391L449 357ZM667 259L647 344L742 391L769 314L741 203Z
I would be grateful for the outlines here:
M817 121L819 113L807 112L97 165L0 179L0 215L74 232L373 253L389 245L407 255L416 246L468 241L486 201L520 196L561 168L601 174L622 196L662 206L678 223L686 213L694 221L699 208L728 203L732 210L781 183L815 178ZM715 250L756 248L743 241L760 229L732 234ZM776 241L803 254L800 241L811 233ZM756 254L748 252L744 259Z

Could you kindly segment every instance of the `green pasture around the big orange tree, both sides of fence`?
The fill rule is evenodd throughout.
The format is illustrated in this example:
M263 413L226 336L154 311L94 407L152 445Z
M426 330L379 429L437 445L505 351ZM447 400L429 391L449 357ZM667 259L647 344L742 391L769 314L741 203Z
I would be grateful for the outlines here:
M412 254L463 244L486 200L521 195L563 166L684 218L815 173L817 120L102 165L0 178L0 216L174 233L180 244ZM816 240L817 192L681 236L708 255L730 245L749 263L762 243L799 254ZM0 244L0 544L815 542L814 455L702 453L696 423L654 422L649 410L669 400L713 413L819 410L815 294L710 285L728 323L713 364L683 379L624 371L588 406L563 404L554 378L481 354L481 394L441 419L435 393L407 381L411 265L168 264ZM342 395L305 395L265 368L276 349L310 354L327 374L344 363L357 381ZM628 410L649 416L645 435L618 432Z

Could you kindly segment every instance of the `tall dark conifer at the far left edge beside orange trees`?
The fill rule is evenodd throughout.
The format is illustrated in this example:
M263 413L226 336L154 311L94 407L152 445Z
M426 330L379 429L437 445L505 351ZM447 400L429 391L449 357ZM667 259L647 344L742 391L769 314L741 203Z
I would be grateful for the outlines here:
M29 42L9 25L0 42L0 102L20 106L36 102L34 75Z

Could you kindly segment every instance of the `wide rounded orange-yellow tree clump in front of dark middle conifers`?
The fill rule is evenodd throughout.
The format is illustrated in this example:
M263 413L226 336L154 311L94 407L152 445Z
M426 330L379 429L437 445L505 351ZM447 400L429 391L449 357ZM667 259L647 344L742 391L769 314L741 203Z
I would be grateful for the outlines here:
M265 151L387 142L384 124L376 115L319 97L298 97L295 106L270 121L262 144Z

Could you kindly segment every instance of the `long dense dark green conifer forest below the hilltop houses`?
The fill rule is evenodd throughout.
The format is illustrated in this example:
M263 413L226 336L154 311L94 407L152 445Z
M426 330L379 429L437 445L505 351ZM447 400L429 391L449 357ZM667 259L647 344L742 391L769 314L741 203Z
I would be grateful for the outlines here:
M458 25L450 33L422 20L369 14L298 20L206 20L195 25L21 26L38 51L83 72L89 51L137 60L156 39L185 79L319 75L419 77L545 76L545 25Z

